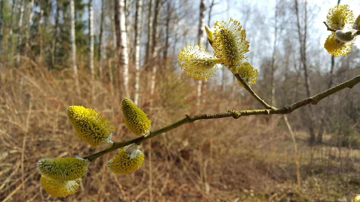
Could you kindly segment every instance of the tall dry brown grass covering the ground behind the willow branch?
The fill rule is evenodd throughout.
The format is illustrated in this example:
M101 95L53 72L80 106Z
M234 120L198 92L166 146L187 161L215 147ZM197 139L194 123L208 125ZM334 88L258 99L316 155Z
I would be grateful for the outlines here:
M81 95L73 88L69 69L49 72L36 63L7 68L0 87L0 200L8 201L296 201L296 167L293 144L282 116L248 116L240 119L200 120L161 134L149 142L143 166L129 175L116 175L106 162L116 152L89 165L81 187L66 198L49 196L40 184L36 161L42 158L84 157L100 151L82 142L67 120L69 105L98 110L117 127L114 141L134 136L125 128L119 88L107 77L90 81L80 68ZM145 75L143 75L145 77ZM163 76L157 83L154 107L149 109L147 79L141 83L140 107L149 113L152 129L185 114L251 109L246 100L230 100L204 88L204 103L195 108L195 83L179 75ZM181 94L183 93L183 94ZM248 96L250 97L250 96ZM246 98L246 99L251 99ZM288 115L290 124L296 114ZM351 201L359 193L358 150L325 144L307 146L307 134L294 130L299 151L301 198L305 201ZM149 165L151 164L151 185ZM149 198L149 190L152 198Z

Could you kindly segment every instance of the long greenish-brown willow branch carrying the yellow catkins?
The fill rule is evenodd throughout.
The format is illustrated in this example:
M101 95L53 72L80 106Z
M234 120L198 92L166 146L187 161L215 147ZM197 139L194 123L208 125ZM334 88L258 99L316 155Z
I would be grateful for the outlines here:
M236 74L235 76L237 78L239 77L238 74ZM244 81L243 79L241 79L241 77L239 77L239 78L240 78L240 82ZM135 144L141 144L142 142L144 142L147 139L153 138L153 137L155 137L155 136L157 136L157 135L159 135L161 133L166 133L169 130L175 129L175 128L181 126L181 125L184 125L186 123L191 123L191 122L196 121L196 120L220 119L220 118L225 118L225 117L233 117L235 119L238 119L240 116L260 115L260 114L264 114L264 115L268 115L268 114L289 114L289 113L293 112L294 110L296 110L296 109L298 109L300 107L303 107L305 105L308 105L308 104L316 105L316 104L318 104L318 102L320 100L324 99L325 97L328 97L328 96L332 95L333 93L341 91L344 88L352 88L359 82L360 82L360 75L358 75L358 76L356 76L356 77L354 77L354 78L352 78L352 79L350 79L350 80L348 80L348 81L346 81L344 83L338 84L337 86L329 88L326 91L323 91L323 92L321 92L321 93L319 93L317 95L314 95L312 97L306 98L304 100L298 101L298 102L296 102L294 104L291 104L291 105L288 105L288 106L285 106L285 107L282 107L282 108L275 108L275 107L269 106L269 109L240 110L240 111L229 110L229 111L224 112L224 113L216 113L216 114L186 115L186 118L181 119L180 121L177 121L176 123L173 123L173 124L168 125L168 126L166 126L164 128L161 128L161 129L154 130L154 131L150 132L149 136L146 136L146 137L141 136L141 137L138 137L138 138L135 138L135 139L131 139L129 141L125 141L125 142L114 142L114 144L113 144L113 146L111 148L108 148L107 150L104 150L104 151L95 153L93 155L84 157L84 159L89 159L90 161L94 161L96 158L98 158L99 156L104 155L105 153L109 153L111 151L117 150L118 148L127 146L129 144L134 144L134 143ZM251 90L251 88L249 88L249 89ZM254 92L254 95L256 95L255 92Z

